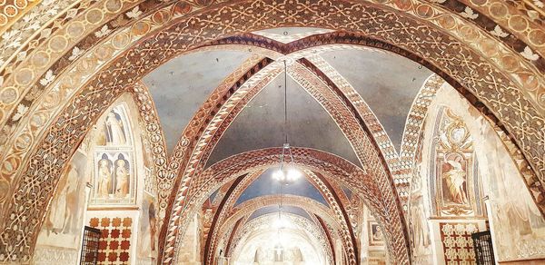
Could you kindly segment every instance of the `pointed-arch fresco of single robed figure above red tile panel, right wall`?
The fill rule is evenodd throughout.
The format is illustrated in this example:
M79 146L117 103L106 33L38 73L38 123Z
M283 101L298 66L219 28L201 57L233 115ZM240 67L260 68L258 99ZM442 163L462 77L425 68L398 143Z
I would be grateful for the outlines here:
M423 158L428 162L421 169L427 168L429 173L431 249L437 251L434 260L440 264L471 264L475 262L471 233L480 231L486 220L473 139L467 125L450 107L440 105L432 112L432 128L424 134L429 139L423 146L429 148ZM419 248L429 253L426 244L421 241ZM424 258L426 253L421 254Z

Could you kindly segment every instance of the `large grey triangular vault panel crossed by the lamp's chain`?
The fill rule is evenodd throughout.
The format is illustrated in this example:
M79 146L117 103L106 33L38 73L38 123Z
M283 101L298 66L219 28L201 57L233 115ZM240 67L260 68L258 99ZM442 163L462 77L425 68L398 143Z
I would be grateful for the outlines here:
M233 154L274 146L282 146L283 74L236 117L207 162L212 165ZM309 93L288 76L288 134L292 146L310 147L332 152L360 165L352 146L329 114Z

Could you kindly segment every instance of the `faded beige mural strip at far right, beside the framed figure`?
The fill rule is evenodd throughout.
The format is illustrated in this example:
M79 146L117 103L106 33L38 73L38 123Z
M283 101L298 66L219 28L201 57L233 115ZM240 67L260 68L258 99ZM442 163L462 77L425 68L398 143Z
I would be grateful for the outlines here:
M490 125L481 126L481 137L492 133ZM497 137L492 139L483 142L487 152L482 166L490 173L490 219L500 260L545 259L545 220L505 146Z

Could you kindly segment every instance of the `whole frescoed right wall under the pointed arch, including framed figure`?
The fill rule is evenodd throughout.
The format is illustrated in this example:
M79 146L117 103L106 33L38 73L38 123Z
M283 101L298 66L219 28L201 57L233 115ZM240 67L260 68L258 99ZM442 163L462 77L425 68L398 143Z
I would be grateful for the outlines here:
M473 232L486 230L488 220L499 261L545 259L545 221L522 181L528 172L519 171L520 159L510 155L516 153L512 152L516 147L502 140L505 134L448 84L437 93L430 109L433 114L426 123L434 125L426 130L422 150L423 159L436 165L426 167L424 162L421 170L428 170L431 176L426 187L429 197L424 199L431 201L434 215L428 221L433 224L432 244L458 229L443 225L444 229L435 231L440 227L438 222L473 223L477 228L470 230ZM460 256L453 250L445 252L445 248L436 248L443 251L441 262L461 256L472 259L469 252Z

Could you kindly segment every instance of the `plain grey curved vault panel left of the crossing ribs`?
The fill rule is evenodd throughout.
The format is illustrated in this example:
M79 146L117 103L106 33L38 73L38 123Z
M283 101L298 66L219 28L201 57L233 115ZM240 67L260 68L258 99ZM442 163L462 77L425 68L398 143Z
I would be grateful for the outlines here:
M169 152L208 95L249 56L233 51L187 54L144 77L154 97Z

